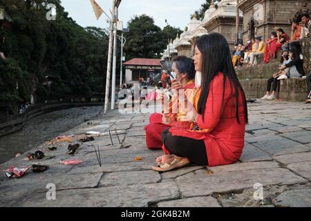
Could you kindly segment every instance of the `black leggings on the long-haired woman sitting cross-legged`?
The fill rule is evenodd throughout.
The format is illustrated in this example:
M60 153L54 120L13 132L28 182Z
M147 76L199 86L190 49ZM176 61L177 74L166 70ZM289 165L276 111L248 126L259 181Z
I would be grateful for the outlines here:
M169 153L178 157L187 157L192 163L208 166L205 143L188 137L173 136L169 128L162 132L162 142Z

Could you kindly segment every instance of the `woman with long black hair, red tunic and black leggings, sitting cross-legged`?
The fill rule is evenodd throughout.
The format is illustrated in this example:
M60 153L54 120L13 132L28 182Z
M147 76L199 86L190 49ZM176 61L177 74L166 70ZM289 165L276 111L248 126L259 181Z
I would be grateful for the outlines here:
M238 81L229 45L223 35L203 35L196 41L194 64L202 73L194 90L191 130L172 127L162 133L170 155L158 157L156 171L170 171L191 162L219 166L236 162L243 152L247 104ZM175 82L174 88L178 88Z

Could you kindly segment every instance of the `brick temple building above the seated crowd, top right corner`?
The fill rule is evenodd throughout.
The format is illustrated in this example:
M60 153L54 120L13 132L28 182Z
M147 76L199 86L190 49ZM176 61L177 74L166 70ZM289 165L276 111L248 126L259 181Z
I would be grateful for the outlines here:
M243 12L243 39L262 36L283 28L292 36L292 19L301 19L303 12L311 12L310 0L240 0L238 8Z

